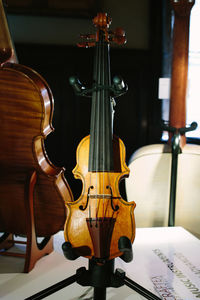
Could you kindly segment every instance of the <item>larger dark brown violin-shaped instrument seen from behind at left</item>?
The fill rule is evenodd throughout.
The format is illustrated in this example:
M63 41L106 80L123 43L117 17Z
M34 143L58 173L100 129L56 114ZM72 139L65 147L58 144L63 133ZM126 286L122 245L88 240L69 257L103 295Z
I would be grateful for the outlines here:
M64 168L52 164L44 146L54 99L37 72L13 62L0 4L0 232L27 235L29 228L29 236L49 237L63 229L65 201L73 199Z

